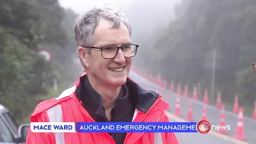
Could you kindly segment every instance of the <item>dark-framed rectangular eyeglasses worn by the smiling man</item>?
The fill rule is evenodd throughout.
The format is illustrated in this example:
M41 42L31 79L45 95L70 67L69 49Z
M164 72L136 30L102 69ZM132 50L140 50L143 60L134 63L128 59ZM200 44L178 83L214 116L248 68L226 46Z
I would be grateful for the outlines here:
M103 46L103 47L83 46L83 47L101 50L101 56L104 59L113 59L114 57L117 56L119 49L123 51L123 56L126 58L135 56L139 45L126 44L124 46Z

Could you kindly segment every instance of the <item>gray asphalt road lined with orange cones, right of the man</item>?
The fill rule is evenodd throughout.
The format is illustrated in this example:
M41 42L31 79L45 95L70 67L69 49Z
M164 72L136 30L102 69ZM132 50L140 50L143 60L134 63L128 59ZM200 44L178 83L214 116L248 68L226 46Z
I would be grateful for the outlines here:
M169 111L174 114L175 104L176 104L176 94L171 91L165 90L164 88L155 85L152 82L149 82L146 78L142 78L142 76L137 75L135 72L130 72L130 78L132 78L135 82L145 88L146 90L158 91L162 94L164 100L168 102L170 105ZM189 99L181 98L181 118L186 119ZM220 110L207 105L207 118L211 124L219 124ZM203 111L203 103L200 101L193 101L193 117L195 121L200 121L202 117ZM245 137L246 141L236 141L232 137L235 135L236 126L237 126L238 116L232 114L229 111L226 111L226 124L231 126L231 130L228 132L227 136L220 136L220 134L211 135L206 134L202 135L199 133L177 133L178 139L181 144L211 144L211 143L221 143L221 144L229 144L229 143L250 143L253 144L256 142L256 121L245 117L244 126L245 126ZM225 139L224 139L225 137Z

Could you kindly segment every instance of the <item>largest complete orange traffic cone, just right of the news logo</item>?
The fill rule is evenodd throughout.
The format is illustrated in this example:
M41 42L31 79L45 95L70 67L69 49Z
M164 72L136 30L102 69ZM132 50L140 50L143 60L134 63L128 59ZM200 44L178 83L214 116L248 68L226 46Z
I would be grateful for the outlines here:
M245 133L244 133L244 117L243 117L243 109L240 108L238 114L238 123L236 127L236 133L234 136L235 139L245 140Z

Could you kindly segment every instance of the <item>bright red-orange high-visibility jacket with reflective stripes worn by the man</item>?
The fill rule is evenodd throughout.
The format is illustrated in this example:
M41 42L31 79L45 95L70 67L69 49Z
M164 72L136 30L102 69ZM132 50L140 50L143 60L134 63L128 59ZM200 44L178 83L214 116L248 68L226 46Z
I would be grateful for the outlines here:
M79 83L79 81L78 81ZM43 101L31 114L30 122L95 122L82 107L75 89L63 91L58 98ZM148 112L135 110L133 122L168 122L165 114L168 104L162 96L152 104ZM32 133L27 134L27 144L115 144L108 133ZM124 144L178 144L174 133L127 133Z

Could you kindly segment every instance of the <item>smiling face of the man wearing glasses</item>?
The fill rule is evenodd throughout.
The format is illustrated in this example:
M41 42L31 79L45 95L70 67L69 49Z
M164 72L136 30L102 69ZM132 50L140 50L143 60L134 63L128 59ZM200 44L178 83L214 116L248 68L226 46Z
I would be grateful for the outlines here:
M123 46L131 43L129 31L124 24L121 24L119 29L110 27L112 24L109 21L100 21L94 31L95 47ZM91 49L91 53L86 54L85 59L88 75L97 82L117 87L125 84L132 59L125 58L122 50L119 50L113 59L104 59L101 50Z

